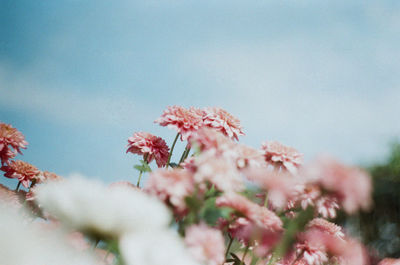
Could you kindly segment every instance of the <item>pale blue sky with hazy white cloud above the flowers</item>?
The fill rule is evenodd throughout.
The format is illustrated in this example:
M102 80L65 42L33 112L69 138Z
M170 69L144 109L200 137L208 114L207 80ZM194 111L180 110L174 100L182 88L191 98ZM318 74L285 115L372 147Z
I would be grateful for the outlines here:
M245 137L380 160L400 135L398 1L0 2L0 120L20 157L135 179L127 138L168 105L221 106ZM183 146L183 144L181 144Z

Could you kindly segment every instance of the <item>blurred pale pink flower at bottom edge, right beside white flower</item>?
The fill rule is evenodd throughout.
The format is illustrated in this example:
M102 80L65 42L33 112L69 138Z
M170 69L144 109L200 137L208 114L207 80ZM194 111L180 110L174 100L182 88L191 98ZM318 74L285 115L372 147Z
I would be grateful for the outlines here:
M221 231L204 223L186 229L185 243L189 252L207 265L220 265L225 261L225 240Z

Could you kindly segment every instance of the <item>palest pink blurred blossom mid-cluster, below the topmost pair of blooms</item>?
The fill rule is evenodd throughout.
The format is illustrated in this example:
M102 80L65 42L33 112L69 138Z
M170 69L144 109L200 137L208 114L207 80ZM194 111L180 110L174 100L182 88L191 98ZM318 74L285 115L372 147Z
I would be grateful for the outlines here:
M216 189L225 192L244 189L243 178L230 158L215 156L213 152L203 152L194 162L196 183L209 182L214 184Z

